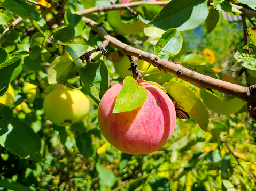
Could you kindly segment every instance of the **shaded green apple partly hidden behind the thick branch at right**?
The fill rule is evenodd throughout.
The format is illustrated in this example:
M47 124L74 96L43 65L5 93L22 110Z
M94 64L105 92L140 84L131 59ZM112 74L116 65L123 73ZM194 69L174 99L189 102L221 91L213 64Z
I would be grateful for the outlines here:
M231 78L228 74L222 73L223 81L231 82L235 84L235 79ZM219 114L230 115L231 113L236 113L245 104L245 101L238 99L236 97L228 96L224 94L223 100L220 100L218 97L206 92L205 89L200 91L201 98L203 99L206 107Z

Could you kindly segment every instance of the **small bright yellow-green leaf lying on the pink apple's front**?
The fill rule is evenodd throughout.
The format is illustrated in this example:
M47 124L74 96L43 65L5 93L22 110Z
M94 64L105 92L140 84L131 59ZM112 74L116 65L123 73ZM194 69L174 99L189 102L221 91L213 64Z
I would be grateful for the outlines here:
M123 87L115 100L113 113L131 111L141 106L148 97L148 92L131 76L123 79Z

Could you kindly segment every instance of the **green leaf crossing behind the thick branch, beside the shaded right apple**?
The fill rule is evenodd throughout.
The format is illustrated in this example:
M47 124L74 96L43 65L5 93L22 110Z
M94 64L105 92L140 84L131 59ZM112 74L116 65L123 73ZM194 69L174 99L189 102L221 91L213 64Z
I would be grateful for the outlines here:
M187 63L179 63L183 67L193 70L197 73L210 76L212 78L218 78L218 75L213 71L213 69L207 67L206 65L195 65L195 64L187 64ZM212 89L211 91L206 90L208 93L218 97L219 99L223 100L224 94L222 92L219 92L217 90Z

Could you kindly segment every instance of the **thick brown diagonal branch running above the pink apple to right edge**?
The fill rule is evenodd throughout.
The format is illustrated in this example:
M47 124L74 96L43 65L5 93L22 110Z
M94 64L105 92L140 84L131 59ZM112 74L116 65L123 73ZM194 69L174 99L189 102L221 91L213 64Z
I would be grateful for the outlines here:
M203 88L215 89L224 94L235 96L246 102L256 104L256 94L252 92L249 87L243 87L237 84L218 80L210 76L205 76L203 74L184 68L180 64L175 64L167 60L162 60L154 54L141 51L137 48L133 48L108 35L102 26L92 21L91 19L84 17L83 20L89 27L92 28L92 30L98 32L98 35L100 37L102 37L104 40L107 40L110 46L119 49L119 51L121 51L125 55L136 56L138 57L138 59L151 63L159 70L171 73L174 76L177 76L186 81L193 82Z

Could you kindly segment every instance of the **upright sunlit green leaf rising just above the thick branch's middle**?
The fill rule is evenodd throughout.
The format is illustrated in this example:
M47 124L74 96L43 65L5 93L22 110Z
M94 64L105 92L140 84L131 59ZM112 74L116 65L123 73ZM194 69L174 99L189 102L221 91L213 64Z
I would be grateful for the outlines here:
M160 59L170 60L170 58L178 54L182 47L182 37L177 29L169 29L158 40L154 47L154 54Z

